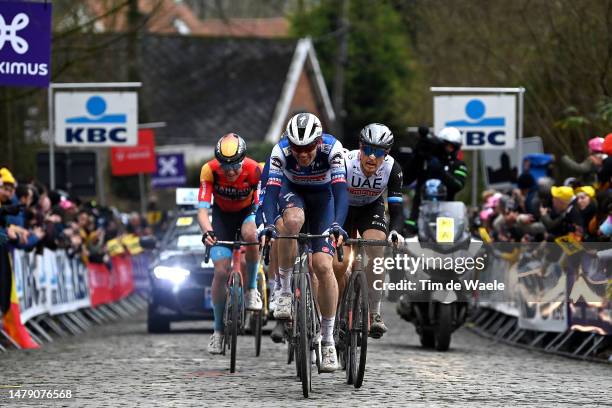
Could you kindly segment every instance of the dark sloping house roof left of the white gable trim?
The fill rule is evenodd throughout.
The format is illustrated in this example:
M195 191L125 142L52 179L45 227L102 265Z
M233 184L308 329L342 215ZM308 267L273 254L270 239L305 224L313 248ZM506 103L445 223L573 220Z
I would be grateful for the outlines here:
M263 140L295 52L295 40L147 35L140 95L158 143L210 144L227 132Z

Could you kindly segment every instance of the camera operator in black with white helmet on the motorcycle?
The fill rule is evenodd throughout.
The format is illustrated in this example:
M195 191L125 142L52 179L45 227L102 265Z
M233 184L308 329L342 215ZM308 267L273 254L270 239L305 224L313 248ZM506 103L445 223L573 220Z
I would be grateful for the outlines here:
M421 191L429 179L441 180L446 187L445 201L453 201L463 189L468 175L467 166L458 158L462 136L457 128L446 127L435 136L427 127L419 128L419 141L409 168L404 171L405 184L416 181L415 191ZM405 221L405 235L417 232L420 194L415 194L410 217Z

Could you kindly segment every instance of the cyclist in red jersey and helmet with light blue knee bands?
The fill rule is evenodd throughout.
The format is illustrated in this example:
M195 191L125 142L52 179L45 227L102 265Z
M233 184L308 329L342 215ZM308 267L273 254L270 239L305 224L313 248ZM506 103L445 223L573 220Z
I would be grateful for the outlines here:
M198 222L203 233L202 242L213 246L210 257L215 269L212 286L215 324L208 344L211 354L222 351L225 282L232 256L231 248L215 243L217 240L233 241L238 230L244 241L257 242L254 206L258 202L260 176L258 163L246 157L246 143L235 133L219 139L215 159L202 166L200 172ZM212 222L209 218L211 209ZM258 255L257 246L246 248L245 305L248 310L262 308L261 295L257 291Z

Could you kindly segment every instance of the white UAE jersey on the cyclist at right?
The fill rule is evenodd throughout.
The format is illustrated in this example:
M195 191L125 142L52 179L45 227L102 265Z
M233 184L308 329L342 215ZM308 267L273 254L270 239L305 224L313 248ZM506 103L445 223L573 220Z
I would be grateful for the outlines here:
M389 203L402 202L402 168L387 155L376 173L366 177L359 162L360 150L346 151L346 183L351 207L373 203L387 190Z

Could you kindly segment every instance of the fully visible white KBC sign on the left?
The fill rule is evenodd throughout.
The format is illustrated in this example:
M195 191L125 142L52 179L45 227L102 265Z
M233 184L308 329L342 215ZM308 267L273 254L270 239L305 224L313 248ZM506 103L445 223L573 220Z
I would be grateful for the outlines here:
M58 146L134 146L138 142L136 92L57 92Z

